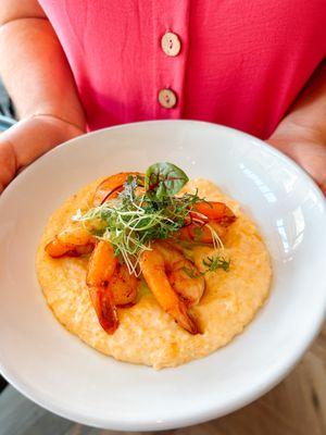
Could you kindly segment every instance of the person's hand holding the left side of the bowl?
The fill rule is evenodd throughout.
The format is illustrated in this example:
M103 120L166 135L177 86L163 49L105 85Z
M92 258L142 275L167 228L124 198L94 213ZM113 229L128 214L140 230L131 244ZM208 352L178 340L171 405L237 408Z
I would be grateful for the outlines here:
M0 135L0 192L16 173L39 156L73 137L82 128L51 115L36 115L17 122Z

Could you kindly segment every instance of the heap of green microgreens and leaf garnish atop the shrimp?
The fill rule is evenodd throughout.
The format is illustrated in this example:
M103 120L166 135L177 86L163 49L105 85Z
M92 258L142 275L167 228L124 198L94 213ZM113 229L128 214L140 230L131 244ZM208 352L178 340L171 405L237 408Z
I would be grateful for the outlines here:
M96 237L109 240L115 254L137 273L141 252L155 239L173 237L186 223L198 194L176 196L188 182L172 163L155 163L141 175L129 175L117 198L73 217ZM211 268L214 265L211 265Z

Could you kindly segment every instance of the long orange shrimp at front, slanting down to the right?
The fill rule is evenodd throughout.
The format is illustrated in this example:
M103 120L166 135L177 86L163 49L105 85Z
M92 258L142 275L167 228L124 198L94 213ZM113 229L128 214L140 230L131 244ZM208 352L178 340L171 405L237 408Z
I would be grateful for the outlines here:
M188 312L186 301L178 295L170 281L173 261L170 261L167 252L162 252L159 243L153 244L152 250L142 252L140 258L142 275L161 308L190 334L198 334L199 327ZM172 279L172 282L177 282L176 287L180 290L181 279Z

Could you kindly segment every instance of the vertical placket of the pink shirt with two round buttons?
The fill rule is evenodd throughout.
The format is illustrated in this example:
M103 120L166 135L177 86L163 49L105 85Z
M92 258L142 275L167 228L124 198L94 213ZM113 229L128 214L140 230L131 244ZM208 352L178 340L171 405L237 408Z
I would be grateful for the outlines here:
M153 117L179 119L185 101L190 0L152 1Z

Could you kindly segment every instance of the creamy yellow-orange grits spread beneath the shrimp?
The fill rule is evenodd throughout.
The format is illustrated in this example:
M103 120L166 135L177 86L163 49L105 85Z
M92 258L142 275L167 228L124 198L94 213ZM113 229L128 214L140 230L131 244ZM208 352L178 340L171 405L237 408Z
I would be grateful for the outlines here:
M226 202L237 214L225 238L231 259L229 272L217 270L205 275L206 289L200 303L191 309L203 334L190 335L156 303L145 284L139 285L137 303L118 309L120 327L108 335L99 324L85 283L87 258L52 259L46 244L67 224L78 208L91 207L99 181L86 186L50 217L37 252L36 270L46 300L55 318L73 334L97 350L117 360L152 365L176 366L202 358L228 344L252 320L265 301L271 285L271 263L254 223L239 204L226 198L203 178L191 181L183 191L208 200ZM211 247L193 249L198 266Z

